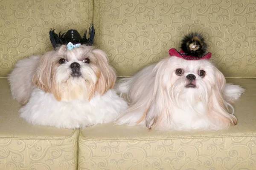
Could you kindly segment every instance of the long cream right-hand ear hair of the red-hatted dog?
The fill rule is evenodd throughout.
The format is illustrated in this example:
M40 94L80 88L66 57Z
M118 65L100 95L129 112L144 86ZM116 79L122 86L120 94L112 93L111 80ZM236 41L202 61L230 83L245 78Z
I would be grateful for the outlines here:
M237 119L233 115L234 109L231 104L224 100L223 91L226 85L226 79L217 68L215 68L215 78L216 86L212 88L211 95L209 95L207 113L209 120L214 121L216 130L218 130L219 128L236 125ZM229 113L230 109L232 110L232 114Z

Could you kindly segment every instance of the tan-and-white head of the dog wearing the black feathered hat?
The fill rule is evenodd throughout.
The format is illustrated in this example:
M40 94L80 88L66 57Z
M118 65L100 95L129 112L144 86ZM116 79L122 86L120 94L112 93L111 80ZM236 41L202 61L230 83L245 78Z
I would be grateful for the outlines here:
M105 94L115 80L107 55L85 45L71 50L63 45L46 53L33 78L38 88L53 93L58 101L90 100L95 92Z

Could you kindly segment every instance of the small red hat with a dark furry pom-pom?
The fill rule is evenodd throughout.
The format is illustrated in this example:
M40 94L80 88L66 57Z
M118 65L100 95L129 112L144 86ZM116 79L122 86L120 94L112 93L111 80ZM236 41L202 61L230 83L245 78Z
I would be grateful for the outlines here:
M212 56L212 53L206 53L207 44L202 34L198 32L186 35L181 40L180 47L180 52L178 52L177 49L170 49L170 56L183 58L185 60L209 60Z

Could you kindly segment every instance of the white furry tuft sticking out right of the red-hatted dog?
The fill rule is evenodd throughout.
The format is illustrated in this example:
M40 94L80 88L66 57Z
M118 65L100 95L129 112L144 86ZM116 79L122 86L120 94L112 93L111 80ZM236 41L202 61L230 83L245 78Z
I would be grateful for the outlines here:
M226 84L224 89L224 97L228 101L236 101L241 97L241 94L245 92L239 85Z

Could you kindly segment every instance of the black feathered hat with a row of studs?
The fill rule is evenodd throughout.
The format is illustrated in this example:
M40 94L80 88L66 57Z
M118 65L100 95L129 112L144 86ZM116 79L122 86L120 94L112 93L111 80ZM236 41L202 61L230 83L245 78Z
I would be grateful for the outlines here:
M56 50L58 46L67 45L69 42L73 44L85 44L87 46L91 46L93 44L93 39L95 35L95 29L93 24L91 24L89 28L89 37L87 38L87 30L84 33L84 36L81 37L79 32L76 29L70 29L66 33L61 34L59 32L56 34L55 29L51 29L49 31L49 37L52 43L53 48Z

